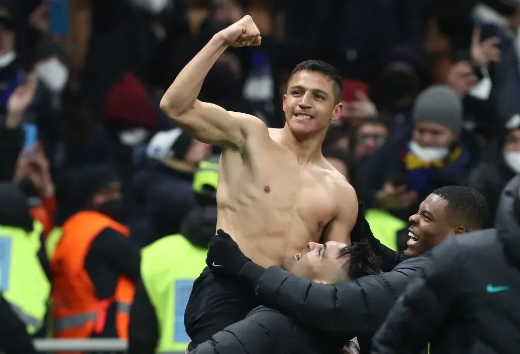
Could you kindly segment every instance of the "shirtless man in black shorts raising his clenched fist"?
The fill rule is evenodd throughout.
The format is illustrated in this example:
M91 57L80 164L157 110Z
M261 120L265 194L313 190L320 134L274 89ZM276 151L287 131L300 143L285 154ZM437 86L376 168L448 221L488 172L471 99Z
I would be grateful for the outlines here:
M268 267L280 266L307 242L349 244L358 204L352 186L321 154L328 125L342 111L341 77L331 65L315 60L297 65L283 95L282 129L197 100L207 72L227 47L260 43L250 16L220 31L179 73L161 109L197 140L222 148L217 229ZM254 307L254 294L232 280L215 279L206 268L193 283L185 312L192 347Z

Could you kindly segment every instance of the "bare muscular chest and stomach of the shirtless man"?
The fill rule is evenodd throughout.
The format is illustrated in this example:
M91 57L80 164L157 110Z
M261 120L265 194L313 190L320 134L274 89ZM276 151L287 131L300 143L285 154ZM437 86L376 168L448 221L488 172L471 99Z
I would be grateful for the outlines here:
M278 133L269 129L271 139L252 147L247 158L224 151L218 172L217 228L264 267L318 242L339 203L352 204L357 214L355 194L351 200L337 196L338 188L351 188L346 179L325 159L299 164Z

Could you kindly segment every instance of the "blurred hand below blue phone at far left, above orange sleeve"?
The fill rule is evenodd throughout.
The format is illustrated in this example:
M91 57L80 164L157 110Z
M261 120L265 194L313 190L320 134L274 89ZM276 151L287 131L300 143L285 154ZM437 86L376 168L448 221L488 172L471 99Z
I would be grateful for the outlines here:
M18 156L14 181L31 181L38 196L45 199L54 195L55 186L49 171L49 161L40 142L22 150Z

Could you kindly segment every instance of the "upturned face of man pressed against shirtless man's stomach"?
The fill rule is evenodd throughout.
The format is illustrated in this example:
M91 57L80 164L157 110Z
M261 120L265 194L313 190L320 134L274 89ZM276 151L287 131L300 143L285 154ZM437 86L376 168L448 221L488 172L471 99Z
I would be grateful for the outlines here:
M345 243L329 241L324 245L309 242L300 254L285 259L282 268L298 277L319 283L337 283L348 279L350 255L340 256Z

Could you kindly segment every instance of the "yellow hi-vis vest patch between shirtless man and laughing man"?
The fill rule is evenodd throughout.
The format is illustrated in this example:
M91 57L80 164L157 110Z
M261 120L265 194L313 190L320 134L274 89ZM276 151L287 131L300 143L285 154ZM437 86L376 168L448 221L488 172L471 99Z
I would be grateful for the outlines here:
M374 237L386 247L397 251L397 231L406 229L408 222L396 218L382 209L368 209L365 219Z

